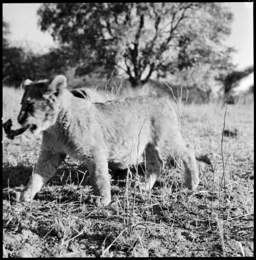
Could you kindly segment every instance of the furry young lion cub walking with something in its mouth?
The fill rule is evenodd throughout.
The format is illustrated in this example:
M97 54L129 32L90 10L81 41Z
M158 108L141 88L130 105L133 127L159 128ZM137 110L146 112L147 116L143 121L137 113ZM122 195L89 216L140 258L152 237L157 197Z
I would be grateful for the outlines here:
M141 187L149 190L164 159L180 156L185 184L189 189L197 187L194 150L183 140L167 99L139 96L92 103L68 91L62 75L52 82L26 80L24 86L18 122L43 137L34 174L22 191L12 191L12 199L33 199L67 155L87 164L97 206L111 202L108 163L125 168L146 158L147 182Z

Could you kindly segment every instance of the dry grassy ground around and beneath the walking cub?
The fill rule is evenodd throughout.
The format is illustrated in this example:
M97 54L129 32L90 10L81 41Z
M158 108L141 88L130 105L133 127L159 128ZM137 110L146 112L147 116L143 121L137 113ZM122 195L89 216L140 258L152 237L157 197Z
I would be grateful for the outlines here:
M118 91L118 86L117 86ZM20 90L3 88L3 121L19 111ZM116 97L115 90L111 93ZM110 95L110 96L111 96ZM68 158L30 203L10 203L8 189L26 181L41 139L3 134L3 256L252 256L254 208L253 104L179 104L183 135L206 153L214 172L199 163L199 187L187 190L182 165L165 167L150 193L134 188L145 169L120 172L112 180L106 208L87 203L86 166ZM15 125L16 123L16 125ZM225 164L225 187L221 182ZM226 189L226 196L225 196Z

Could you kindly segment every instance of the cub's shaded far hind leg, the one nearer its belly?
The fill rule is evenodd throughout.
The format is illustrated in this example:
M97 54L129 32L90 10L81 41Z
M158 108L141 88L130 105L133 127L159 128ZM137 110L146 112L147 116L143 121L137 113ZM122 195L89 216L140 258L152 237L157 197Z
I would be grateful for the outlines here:
M158 147L155 147L152 144L146 146L145 157L146 182L140 183L140 187L142 190L149 191L160 176L164 162Z

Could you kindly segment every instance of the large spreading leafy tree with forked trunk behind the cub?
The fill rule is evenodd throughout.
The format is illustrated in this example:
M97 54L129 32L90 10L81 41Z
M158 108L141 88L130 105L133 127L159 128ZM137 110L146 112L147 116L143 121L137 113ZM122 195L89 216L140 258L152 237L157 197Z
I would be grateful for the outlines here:
M57 3L37 13L78 75L119 69L137 86L153 73L230 65L223 39L232 13L224 3Z

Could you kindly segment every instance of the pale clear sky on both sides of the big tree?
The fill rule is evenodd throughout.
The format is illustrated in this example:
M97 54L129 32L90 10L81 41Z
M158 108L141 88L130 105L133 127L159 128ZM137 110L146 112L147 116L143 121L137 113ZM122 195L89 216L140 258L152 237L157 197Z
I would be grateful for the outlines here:
M3 4L3 19L10 25L9 39L26 46L28 43L35 51L46 51L54 46L48 33L43 33L37 26L36 11L40 3ZM253 3L226 3L234 14L232 31L226 40L228 46L238 50L233 54L237 69L244 69L253 64Z

